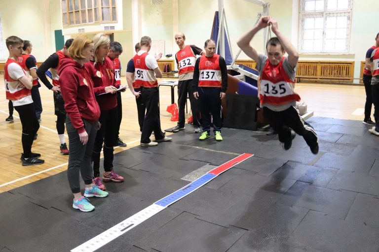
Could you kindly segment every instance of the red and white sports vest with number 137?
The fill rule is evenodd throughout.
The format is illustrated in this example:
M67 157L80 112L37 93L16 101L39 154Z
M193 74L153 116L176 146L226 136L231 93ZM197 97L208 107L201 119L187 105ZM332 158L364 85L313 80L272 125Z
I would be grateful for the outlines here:
M213 57L200 57L199 63L199 87L221 88L221 68L220 55L215 54Z

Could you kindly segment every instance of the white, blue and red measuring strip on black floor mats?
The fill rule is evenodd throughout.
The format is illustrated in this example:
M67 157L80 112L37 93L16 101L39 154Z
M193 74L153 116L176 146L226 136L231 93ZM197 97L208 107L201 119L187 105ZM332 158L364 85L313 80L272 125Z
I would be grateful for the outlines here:
M213 170L209 171L205 175L201 176L197 180L193 181L189 185L171 193L170 195L156 201L152 205L148 206L147 208L141 210L140 212L136 213L135 215L129 217L128 219L121 221L120 223L114 225L110 229L104 231L103 233L95 236L91 240L79 245L75 249L71 250L71 252L93 252L97 249L100 249L107 243L110 243L120 235L126 233L133 227L139 225L140 223L148 220L152 216L156 215L163 209L167 208L171 204L175 203L176 201L180 200L181 198L189 195L190 193L194 192L195 190L201 188L217 176L219 176L221 173L227 171L231 167L235 166L236 164L245 161L248 158L253 157L253 154L247 154L244 153L237 158L233 158L226 163L214 168Z

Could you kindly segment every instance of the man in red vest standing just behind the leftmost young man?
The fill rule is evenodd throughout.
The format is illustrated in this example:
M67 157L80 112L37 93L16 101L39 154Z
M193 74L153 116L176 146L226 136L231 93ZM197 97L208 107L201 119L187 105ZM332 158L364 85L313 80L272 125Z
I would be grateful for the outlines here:
M42 103L41 96L39 95L39 85L38 76L37 76L37 60L31 55L33 50L33 45L29 40L24 40L24 46L22 48L23 52L20 57L18 57L18 63L24 68L24 70L33 77L33 88L30 91L32 93L33 104L36 109L36 116L38 123L41 122L41 113L42 113ZM37 137L37 134L36 136ZM36 140L36 139L34 139Z

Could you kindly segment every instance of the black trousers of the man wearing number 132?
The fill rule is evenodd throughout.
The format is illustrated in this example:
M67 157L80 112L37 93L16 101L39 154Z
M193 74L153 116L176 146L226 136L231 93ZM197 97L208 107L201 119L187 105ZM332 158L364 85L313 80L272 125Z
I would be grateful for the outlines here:
M193 126L200 126L200 108L199 100L193 96L192 79L178 82L178 106L179 106L179 121L178 126L184 127L186 117L184 109L186 107L187 94L191 104Z

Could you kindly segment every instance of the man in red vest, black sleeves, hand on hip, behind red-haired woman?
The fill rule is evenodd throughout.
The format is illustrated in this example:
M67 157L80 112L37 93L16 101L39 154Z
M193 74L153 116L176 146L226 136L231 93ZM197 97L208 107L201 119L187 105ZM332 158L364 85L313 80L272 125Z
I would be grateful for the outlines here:
M42 83L49 90L53 91L54 97L54 109L55 115L57 116L57 131L60 141L59 149L62 155L69 155L69 150L67 149L66 141L65 141L65 120L66 120L66 111L65 111L65 102L61 95L61 89L59 87L59 75L58 75L58 67L61 64L61 61L65 58L69 58L68 49L71 46L71 43L74 41L73 38L70 38L66 41L65 46L63 46L62 50L53 53L52 55L42 63L37 69L38 78L42 81ZM45 72L50 69L53 85L47 80Z

